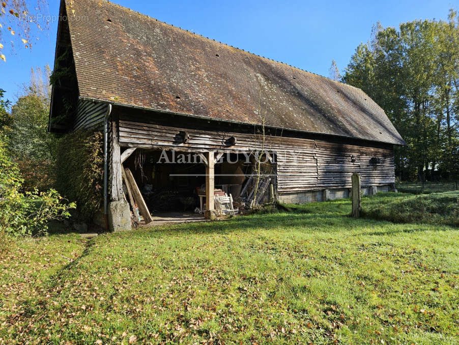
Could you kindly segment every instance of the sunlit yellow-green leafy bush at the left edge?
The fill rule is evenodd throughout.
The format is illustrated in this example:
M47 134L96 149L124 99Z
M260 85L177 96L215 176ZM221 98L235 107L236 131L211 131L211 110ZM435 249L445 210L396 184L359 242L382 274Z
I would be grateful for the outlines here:
M0 237L47 233L48 221L70 216L75 204L66 204L53 189L21 193L23 179L0 141Z

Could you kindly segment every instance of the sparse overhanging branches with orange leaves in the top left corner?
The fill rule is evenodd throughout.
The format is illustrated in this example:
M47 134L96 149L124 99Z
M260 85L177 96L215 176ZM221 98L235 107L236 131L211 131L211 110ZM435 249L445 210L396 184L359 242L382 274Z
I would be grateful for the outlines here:
M46 0L37 0L36 3L25 0L0 2L0 59L6 61L2 51L7 41L11 42L12 50L17 43L32 49L32 40L39 39L34 31L47 30L49 26L48 16L43 15L47 6Z

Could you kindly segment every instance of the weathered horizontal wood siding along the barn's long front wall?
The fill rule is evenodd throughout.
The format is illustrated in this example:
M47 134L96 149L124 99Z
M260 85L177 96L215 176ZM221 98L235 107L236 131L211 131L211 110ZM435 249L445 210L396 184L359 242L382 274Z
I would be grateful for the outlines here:
M185 129L186 143L177 140L183 128L154 123L141 123L120 118L119 140L125 147L177 149L180 151L250 152L262 147L261 137L250 133ZM234 136L236 144L228 147L225 140ZM394 182L392 146L373 148L346 143L298 137L267 136L265 149L277 154L279 193L314 189L350 188L351 175L360 172L362 186L386 185ZM354 156L355 161L351 158ZM380 158L371 164L371 157Z

